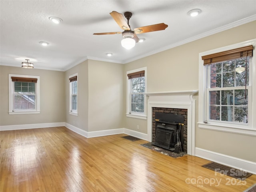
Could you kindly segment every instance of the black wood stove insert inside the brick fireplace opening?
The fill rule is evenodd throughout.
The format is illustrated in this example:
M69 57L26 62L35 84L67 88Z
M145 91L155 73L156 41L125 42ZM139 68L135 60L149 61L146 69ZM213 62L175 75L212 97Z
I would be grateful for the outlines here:
M155 145L179 153L184 144L184 116L178 114L155 113Z

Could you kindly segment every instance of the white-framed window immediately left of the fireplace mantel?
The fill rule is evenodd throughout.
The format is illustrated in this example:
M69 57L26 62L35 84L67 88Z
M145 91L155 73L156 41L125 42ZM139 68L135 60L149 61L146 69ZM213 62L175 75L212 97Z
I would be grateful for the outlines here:
M146 119L146 68L127 72L126 116Z

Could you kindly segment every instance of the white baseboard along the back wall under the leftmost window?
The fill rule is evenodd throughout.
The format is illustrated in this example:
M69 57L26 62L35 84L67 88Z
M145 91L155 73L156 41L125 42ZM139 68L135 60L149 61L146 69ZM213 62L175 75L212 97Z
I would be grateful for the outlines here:
M61 127L65 126L65 122L59 123L41 123L41 124L25 124L25 125L6 125L0 126L0 131L22 130L22 129L36 129L47 127Z

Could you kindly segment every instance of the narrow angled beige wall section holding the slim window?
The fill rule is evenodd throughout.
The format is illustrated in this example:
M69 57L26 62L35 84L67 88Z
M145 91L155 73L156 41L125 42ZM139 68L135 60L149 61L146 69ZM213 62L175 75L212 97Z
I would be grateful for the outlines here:
M78 74L78 116L69 114L69 76ZM88 132L88 60L65 72L66 123Z

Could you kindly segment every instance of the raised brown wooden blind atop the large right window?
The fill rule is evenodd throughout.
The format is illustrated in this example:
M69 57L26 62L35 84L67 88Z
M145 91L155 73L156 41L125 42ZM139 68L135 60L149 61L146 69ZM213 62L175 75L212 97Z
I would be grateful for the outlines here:
M233 60L237 58L252 57L253 46L245 46L223 52L218 52L210 55L202 56L204 65L210 65L212 63L223 62L227 60Z

